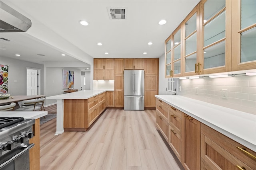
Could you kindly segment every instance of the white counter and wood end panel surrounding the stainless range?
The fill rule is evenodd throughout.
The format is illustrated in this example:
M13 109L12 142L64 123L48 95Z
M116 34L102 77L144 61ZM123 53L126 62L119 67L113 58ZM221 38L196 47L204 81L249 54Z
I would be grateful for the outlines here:
M35 144L34 147L29 150L29 164L31 170L40 169L40 117L47 114L47 111L1 111L1 117L35 119L34 137L29 140L29 143Z

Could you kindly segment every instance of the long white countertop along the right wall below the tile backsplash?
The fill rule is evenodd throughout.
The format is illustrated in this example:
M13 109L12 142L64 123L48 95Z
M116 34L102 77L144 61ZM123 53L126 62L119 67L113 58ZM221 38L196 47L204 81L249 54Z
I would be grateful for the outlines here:
M256 115L177 95L155 95L256 152Z

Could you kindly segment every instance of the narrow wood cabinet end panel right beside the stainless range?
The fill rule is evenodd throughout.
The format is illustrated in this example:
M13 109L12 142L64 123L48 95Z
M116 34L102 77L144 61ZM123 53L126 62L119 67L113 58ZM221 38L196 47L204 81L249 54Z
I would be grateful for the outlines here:
M34 143L34 147L29 150L30 170L40 170L40 119L36 119L34 124L34 137L29 140Z

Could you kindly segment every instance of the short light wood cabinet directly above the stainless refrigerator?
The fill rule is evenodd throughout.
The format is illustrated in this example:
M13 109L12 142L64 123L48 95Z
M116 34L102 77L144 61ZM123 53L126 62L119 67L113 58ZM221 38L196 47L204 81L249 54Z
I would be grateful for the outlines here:
M144 59L124 59L124 70L144 70Z

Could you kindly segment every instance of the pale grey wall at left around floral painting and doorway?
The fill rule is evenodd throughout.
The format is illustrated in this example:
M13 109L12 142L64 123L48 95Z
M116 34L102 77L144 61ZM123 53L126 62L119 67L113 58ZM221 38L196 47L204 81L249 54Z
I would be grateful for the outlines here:
M12 96L19 96L19 95L27 95L27 87L26 87L26 68L37 68L41 71L41 88L40 94L44 94L44 65L31 63L27 61L16 60L8 57L1 57L0 64L8 65L9 66L9 73L8 73L8 94ZM14 80L17 80L14 83Z

